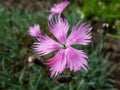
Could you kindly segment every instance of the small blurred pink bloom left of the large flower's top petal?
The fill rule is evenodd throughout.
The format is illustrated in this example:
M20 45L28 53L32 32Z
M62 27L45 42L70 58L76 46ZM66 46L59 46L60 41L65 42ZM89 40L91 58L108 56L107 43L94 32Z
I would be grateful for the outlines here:
M40 36L41 35L40 26L39 25L30 26L28 33L32 37Z

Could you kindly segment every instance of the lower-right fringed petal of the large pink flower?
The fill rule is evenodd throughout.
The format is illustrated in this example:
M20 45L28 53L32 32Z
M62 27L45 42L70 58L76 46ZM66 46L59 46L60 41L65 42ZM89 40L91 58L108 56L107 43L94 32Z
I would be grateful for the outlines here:
M72 47L68 47L65 50L66 60L67 60L67 68L70 71L78 71L84 69L87 71L87 55L82 50L76 50Z

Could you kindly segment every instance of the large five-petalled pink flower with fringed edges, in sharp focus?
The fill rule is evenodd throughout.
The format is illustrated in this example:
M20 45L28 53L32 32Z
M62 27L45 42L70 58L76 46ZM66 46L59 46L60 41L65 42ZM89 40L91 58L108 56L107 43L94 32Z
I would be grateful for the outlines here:
M57 41L47 35L38 38L33 44L34 51L40 56L58 51L56 55L47 61L51 70L51 77L61 74L65 68L70 71L84 69L87 71L87 55L82 50L77 50L72 45L88 45L91 42L91 27L85 23L77 23L73 26L70 35L67 37L70 25L66 19L55 18L49 22L50 32Z

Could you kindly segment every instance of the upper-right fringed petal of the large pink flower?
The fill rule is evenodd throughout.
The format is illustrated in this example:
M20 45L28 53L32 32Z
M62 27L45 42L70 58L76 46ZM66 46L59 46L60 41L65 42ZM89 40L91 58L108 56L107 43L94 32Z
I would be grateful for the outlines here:
M92 28L89 25L86 25L85 23L78 23L72 28L72 31L67 39L67 44L87 45L89 42L91 42L91 30Z

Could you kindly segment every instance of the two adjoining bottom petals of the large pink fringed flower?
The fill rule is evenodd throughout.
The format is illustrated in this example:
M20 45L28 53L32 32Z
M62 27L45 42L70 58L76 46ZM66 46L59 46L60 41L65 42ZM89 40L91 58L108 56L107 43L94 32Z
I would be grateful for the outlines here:
M70 71L78 71L84 69L87 71L87 55L82 50L76 50L72 47L61 49L57 54L47 61L47 65L51 70L51 77L61 74L65 68Z

